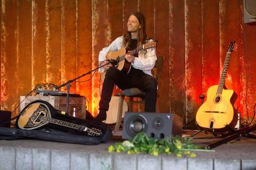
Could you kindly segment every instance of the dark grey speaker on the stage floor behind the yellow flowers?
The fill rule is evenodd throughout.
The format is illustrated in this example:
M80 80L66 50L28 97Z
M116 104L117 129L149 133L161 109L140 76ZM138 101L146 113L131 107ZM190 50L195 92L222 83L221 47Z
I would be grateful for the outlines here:
M144 132L155 139L181 135L183 118L172 113L125 112L123 120L123 139L131 139Z

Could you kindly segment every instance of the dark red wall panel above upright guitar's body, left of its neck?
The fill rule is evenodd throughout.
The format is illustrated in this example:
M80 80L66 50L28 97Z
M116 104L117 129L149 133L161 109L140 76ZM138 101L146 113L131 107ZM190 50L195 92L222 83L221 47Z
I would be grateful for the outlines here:
M202 2L202 94L220 79L219 2Z

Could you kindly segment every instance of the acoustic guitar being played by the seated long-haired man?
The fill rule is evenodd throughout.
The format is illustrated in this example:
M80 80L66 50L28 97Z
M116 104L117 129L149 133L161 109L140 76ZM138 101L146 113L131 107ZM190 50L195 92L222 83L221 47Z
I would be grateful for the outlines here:
M157 46L157 41L153 40L151 42L140 45L139 47L136 47L134 50L131 50L130 54L135 55L135 54L138 54L143 49L145 50L145 49L153 48L156 46ZM128 74L131 69L131 63L125 59L125 54L128 51L129 50L125 47L121 48L118 51L110 51L108 54L106 54L106 60L108 61L114 60L115 61L114 67L121 70L124 74ZM101 80L103 81L104 78L105 78L105 71L102 72L101 74Z

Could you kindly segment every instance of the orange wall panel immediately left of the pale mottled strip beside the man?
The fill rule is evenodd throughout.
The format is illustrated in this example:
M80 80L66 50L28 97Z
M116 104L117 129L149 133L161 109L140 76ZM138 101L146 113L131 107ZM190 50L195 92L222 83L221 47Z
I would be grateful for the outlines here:
M78 76L92 70L92 3L77 1L77 74ZM78 81L89 80L87 75ZM77 83L77 92L88 99L87 109L92 112L92 81Z

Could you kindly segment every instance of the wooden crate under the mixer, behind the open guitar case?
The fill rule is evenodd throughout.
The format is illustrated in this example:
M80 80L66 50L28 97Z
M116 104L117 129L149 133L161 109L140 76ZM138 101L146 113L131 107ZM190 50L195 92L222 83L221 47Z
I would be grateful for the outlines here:
M22 102L25 96L20 96L19 101ZM22 111L25 106L33 101L42 100L50 103L55 109L66 112L67 98L66 96L28 96L19 106L19 111ZM86 98L84 97L69 97L69 114L73 115L73 110L76 110L76 117L86 118Z

